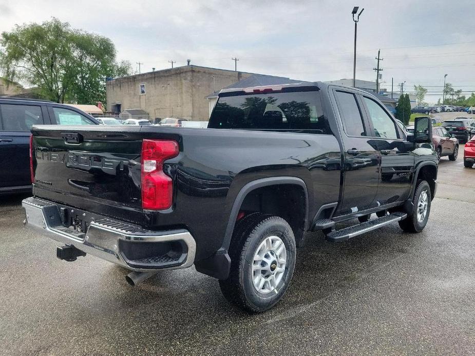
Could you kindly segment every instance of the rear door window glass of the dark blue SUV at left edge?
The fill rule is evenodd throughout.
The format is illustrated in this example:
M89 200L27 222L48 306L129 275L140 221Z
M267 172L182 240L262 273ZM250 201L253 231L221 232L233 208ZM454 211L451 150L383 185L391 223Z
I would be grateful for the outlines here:
M33 125L43 125L41 106L2 104L3 131L28 132Z

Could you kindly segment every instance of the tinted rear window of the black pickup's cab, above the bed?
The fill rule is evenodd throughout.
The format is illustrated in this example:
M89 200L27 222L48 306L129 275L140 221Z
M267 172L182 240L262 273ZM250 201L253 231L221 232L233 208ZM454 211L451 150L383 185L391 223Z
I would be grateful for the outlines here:
M318 91L222 96L208 128L331 134Z

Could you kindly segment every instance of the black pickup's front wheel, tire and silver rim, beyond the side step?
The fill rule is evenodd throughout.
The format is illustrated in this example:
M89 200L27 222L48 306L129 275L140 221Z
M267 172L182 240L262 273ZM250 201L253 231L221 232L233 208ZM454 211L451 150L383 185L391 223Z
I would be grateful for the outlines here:
M421 232L429 220L431 194L426 181L420 181L412 198L412 214L399 222L399 226L408 232Z

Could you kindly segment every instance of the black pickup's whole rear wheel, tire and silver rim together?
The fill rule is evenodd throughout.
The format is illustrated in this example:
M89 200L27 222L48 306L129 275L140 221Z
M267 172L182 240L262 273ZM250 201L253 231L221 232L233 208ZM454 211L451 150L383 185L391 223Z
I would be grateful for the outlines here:
M285 294L295 267L295 238L281 217L254 213L237 222L229 249L230 275L219 281L224 297L262 312Z

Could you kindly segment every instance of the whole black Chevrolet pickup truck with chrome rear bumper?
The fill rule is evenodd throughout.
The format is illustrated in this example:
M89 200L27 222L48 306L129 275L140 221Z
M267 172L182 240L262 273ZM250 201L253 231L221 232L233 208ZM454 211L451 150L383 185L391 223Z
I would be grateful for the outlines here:
M60 259L99 256L132 285L195 265L253 312L285 293L306 231L420 232L436 190L427 117L409 134L368 92L320 82L223 90L207 129L31 132L25 222Z

